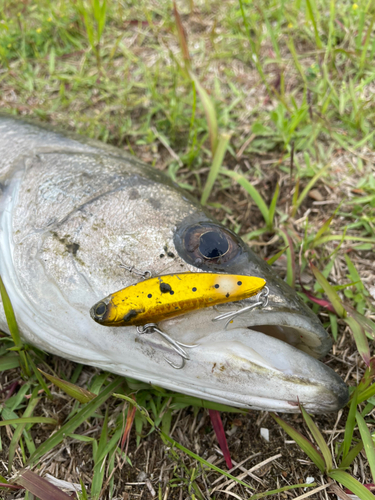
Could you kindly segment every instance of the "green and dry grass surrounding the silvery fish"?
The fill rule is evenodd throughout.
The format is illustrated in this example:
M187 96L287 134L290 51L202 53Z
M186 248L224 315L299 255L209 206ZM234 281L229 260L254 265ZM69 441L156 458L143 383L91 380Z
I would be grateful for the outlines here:
M261 498L323 474L324 481L369 498L355 479L375 482L369 346L375 318L374 2L179 2L173 12L167 2L8 0L0 15L2 110L125 147L165 170L263 258L277 258L280 272L321 313L337 342L329 363L353 387L348 409L337 422L314 419L318 425L306 415L277 417L310 462L296 445L289 452L270 418L265 422L274 442L267 445L257 434L266 416L226 417L228 427L237 428L230 448L241 442L232 457L240 462L260 450L263 460L280 446L287 473L280 472L282 464L272 466L270 478L256 470L257 479L245 476L246 486L237 484L232 494L249 498L252 486L258 488L253 498ZM3 289L2 297L5 302ZM120 471L125 482L145 484L134 485L133 494L150 492L151 485L159 498L210 497L220 455L207 426L195 437L187 430L204 422L209 404L46 358L25 349L10 321L13 340L0 338L9 396L1 407L9 432L1 434L0 446L14 457L13 472L42 460L39 474L48 468L59 476L53 456L63 457L69 443L73 454L64 463L84 457L88 466L78 476L67 466L61 477L81 483L82 499L122 493ZM53 373L49 382L37 367ZM83 374L90 377L86 384ZM59 389L47 387L50 382ZM119 387L124 404L111 396ZM51 392L52 400L45 396ZM111 411L103 411L103 402ZM57 415L60 428L48 438ZM118 444L132 423L124 451ZM179 439L170 437L174 432ZM158 483L147 467L153 460L164 477L164 466L158 469L152 458L163 443L168 473ZM202 458L205 451L210 455ZM146 480L138 479L137 467L147 471ZM231 487L224 479L219 484ZM316 495L325 498L323 490Z

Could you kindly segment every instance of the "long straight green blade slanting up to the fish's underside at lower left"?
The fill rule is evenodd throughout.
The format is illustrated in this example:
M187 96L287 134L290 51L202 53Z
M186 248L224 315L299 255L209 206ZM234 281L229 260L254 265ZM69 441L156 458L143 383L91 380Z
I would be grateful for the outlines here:
M77 427L79 427L85 420L90 418L91 415L95 413L97 408L99 408L103 403L105 403L105 401L107 401L108 398L111 397L114 390L121 383L123 383L123 378L116 377L113 382L108 384L95 399L81 408L81 410L73 418L66 422L66 424L64 424L55 434L49 437L39 446L39 448L37 448L36 452L30 457L29 464L35 464L35 462L45 453L60 444L66 435L73 433Z

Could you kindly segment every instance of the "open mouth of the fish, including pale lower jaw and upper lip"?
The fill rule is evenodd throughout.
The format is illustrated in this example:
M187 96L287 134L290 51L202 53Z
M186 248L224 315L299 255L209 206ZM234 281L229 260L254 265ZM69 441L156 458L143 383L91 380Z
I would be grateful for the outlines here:
M331 347L318 320L312 327L309 317L293 311L252 311L248 317L238 316L227 329L225 324L218 329L205 314L206 318L202 312L189 315L189 336L178 335L182 321L174 329L179 341L198 344L189 351L186 377L178 390L187 390L182 385L192 381L191 369L205 379L199 397L232 406L296 413L302 404L318 414L337 411L348 402L345 383L317 359ZM172 325L168 326L171 333ZM198 388L194 391L190 383L188 392L198 395Z

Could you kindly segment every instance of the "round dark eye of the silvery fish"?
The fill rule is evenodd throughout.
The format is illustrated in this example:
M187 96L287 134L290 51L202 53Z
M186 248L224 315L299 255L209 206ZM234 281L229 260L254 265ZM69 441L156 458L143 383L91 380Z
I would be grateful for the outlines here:
M186 228L176 244L181 257L202 269L230 264L243 251L235 234L212 222L201 222Z

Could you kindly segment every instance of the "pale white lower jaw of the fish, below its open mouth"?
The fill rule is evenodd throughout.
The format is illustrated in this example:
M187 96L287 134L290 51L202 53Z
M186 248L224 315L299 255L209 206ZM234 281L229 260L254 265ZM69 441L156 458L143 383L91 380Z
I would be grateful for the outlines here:
M348 399L346 385L329 367L249 328L217 332L191 356L195 373L205 372L200 378L206 380L207 399L227 393L227 404L288 413L298 412L299 402L312 413L336 411Z

